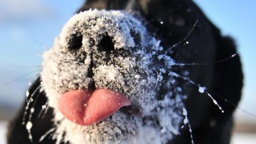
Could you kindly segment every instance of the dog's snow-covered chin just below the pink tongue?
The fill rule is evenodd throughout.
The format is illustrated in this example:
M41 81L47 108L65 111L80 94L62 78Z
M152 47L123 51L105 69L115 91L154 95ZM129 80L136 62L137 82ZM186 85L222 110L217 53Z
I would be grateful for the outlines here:
M64 118L57 124L57 139L64 132L64 141L70 143L129 143L127 140L133 139L134 142L139 137L143 138L138 129L141 126L142 121L138 115L122 111L90 126L78 125Z

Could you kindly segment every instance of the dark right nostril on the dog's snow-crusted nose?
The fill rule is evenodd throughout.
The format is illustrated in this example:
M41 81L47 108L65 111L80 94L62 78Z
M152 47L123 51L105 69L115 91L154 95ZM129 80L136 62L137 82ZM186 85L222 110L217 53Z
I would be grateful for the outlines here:
M111 51L115 49L112 38L109 35L104 35L99 43L99 50L105 51L109 54Z

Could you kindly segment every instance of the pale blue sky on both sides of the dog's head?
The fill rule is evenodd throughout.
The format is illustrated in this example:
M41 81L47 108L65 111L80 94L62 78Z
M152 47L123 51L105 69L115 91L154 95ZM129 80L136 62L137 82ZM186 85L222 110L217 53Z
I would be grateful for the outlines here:
M241 54L245 85L243 109L256 114L256 1L195 1L224 35L236 39ZM0 1L0 106L19 106L33 73L6 84L30 71L39 69L45 46L50 48L61 27L84 1ZM4 104L1 104L4 103ZM253 119L238 111L241 117Z

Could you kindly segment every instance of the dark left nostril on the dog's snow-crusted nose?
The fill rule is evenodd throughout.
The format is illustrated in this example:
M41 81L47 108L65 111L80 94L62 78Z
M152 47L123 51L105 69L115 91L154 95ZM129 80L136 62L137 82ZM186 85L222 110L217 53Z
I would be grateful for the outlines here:
M78 50L82 46L82 41L83 41L83 35L81 33L76 33L71 35L69 42L68 42L68 47L70 50Z

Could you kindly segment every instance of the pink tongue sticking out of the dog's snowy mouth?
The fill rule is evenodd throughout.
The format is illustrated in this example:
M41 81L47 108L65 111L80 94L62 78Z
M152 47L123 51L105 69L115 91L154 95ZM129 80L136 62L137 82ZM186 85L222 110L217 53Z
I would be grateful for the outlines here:
M129 105L131 101L123 94L107 89L69 91L61 95L58 102L61 113L80 125L98 123Z

